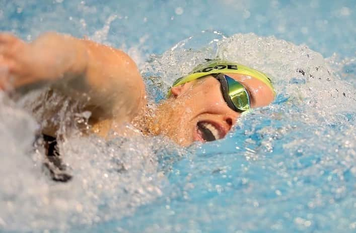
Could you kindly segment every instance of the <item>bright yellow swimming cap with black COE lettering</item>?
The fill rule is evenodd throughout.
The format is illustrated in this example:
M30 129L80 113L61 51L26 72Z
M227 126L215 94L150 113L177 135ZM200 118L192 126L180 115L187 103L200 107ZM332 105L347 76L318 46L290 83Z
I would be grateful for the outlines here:
M257 78L258 80L260 80L264 84L266 84L269 88L271 88L271 90L273 91L273 93L275 95L274 88L273 88L272 83L267 75L265 75L264 73L262 73L258 70L255 70L253 68L250 68L250 67L247 67L247 66L235 63L235 62L226 61L226 60L213 60L213 61L205 62L205 63L195 67L193 69L193 71L190 72L188 75L178 78L173 83L173 86L179 86L186 82L190 82L195 79L201 78L205 75L218 74L218 73L243 74L243 75L248 75L248 76ZM171 94L172 94L172 91L170 89L168 91L167 97L169 97Z

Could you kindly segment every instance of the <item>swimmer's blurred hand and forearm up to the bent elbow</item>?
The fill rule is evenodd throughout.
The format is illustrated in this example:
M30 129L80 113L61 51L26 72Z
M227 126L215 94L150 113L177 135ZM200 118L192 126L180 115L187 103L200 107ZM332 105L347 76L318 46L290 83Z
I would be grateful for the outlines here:
M46 33L31 43L0 33L0 89L56 81L81 75L86 49L77 39Z

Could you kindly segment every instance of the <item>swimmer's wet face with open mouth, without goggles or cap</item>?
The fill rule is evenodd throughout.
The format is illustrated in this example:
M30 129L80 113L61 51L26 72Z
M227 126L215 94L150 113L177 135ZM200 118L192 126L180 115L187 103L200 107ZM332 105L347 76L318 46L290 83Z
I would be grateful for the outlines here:
M273 91L262 81L241 74L227 75L247 89L252 108L272 102ZM172 96L158 107L157 120L160 133L182 146L188 146L194 141L224 138L240 115L225 102L220 82L207 75L173 87Z

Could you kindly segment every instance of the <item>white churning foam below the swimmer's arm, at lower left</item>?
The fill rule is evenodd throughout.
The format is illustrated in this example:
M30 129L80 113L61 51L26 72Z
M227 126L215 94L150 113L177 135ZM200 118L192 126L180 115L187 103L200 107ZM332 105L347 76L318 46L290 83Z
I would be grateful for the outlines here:
M88 113L59 93L49 95L47 88L30 92L16 104L3 93L1 97L2 229L66 231L130 215L162 195L166 168L158 160L181 153L161 137L83 137L78 125L87 121ZM51 110L54 106L58 111ZM51 181L42 165L45 152L36 138L48 124L59 127L58 148L66 171L73 175L68 183Z

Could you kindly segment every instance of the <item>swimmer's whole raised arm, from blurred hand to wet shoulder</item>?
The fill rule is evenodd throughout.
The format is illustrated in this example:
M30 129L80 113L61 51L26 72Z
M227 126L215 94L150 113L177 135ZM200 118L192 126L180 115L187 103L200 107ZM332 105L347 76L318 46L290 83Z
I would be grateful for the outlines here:
M0 89L42 82L86 99L94 118L129 120L146 101L136 64L120 50L57 33L31 43L0 34Z

